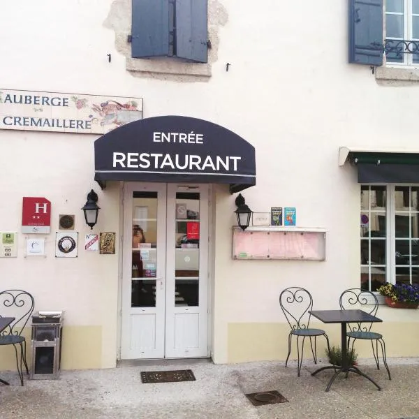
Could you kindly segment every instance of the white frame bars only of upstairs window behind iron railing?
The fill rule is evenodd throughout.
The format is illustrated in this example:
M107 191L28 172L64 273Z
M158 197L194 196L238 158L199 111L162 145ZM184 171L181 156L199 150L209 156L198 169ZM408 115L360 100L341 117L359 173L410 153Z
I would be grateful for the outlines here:
M413 0L403 0L403 13L397 12L388 12L385 8L386 1L384 0L384 39L395 40L395 41L418 41L419 38L413 38L413 16L418 16L419 13L413 14ZM387 36L385 29L385 22L387 15L403 15L403 38L395 38ZM419 54L419 51L418 51ZM419 68L419 63L413 63L414 54L403 54L402 62L388 61L385 58L385 65L390 67L409 67L409 68Z

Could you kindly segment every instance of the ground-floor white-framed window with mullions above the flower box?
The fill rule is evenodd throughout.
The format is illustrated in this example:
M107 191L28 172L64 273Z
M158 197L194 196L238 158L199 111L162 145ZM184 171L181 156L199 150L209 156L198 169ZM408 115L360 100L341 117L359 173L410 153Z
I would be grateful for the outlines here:
M361 185L360 286L419 284L419 185Z

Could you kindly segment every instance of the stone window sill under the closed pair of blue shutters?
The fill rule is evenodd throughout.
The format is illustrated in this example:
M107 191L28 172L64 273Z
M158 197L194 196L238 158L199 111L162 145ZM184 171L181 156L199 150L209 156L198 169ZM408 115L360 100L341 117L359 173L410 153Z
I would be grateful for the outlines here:
M160 75L189 75L198 78L211 77L210 64L197 64L175 61L170 58L139 59L126 58L126 70L135 73L160 74Z

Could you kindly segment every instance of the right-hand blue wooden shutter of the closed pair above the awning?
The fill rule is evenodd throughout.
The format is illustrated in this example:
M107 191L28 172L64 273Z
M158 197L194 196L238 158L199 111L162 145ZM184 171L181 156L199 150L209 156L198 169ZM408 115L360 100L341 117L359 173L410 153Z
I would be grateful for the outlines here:
M207 62L207 0L176 0L177 57Z

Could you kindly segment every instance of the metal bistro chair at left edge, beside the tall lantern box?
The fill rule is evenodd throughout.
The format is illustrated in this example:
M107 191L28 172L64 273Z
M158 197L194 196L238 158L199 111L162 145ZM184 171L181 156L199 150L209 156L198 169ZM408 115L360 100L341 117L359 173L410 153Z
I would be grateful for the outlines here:
M15 317L15 321L0 333L0 346L13 345L13 348L15 348L16 367L21 385L23 385L22 361L29 375L26 358L26 340L22 336L22 332L34 311L34 306L34 297L26 291L8 290L0 292L0 316L8 317L10 315L10 317ZM17 345L20 346L20 362Z

